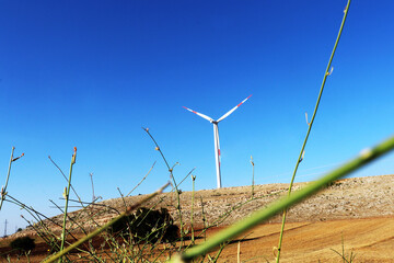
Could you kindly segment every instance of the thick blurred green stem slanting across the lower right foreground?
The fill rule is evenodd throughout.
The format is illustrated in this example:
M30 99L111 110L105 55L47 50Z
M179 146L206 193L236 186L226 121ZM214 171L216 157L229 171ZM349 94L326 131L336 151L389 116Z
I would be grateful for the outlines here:
M345 175L356 171L357 169L362 168L367 163L393 149L394 136L373 148L362 150L356 158L346 162L340 168L335 169L334 171L329 172L325 176L322 176L317 181L310 183L304 188L291 193L290 196L286 196L277 201L276 203L269 205L267 208L254 213L251 217L243 219L230 226L229 228L218 232L205 243L186 250L181 256L174 258L171 262L190 262L193 259L208 253L221 243L235 238L236 236L250 230L258 224L262 224L263 221L269 219L279 211L300 203L304 198L326 187L331 182L344 178Z

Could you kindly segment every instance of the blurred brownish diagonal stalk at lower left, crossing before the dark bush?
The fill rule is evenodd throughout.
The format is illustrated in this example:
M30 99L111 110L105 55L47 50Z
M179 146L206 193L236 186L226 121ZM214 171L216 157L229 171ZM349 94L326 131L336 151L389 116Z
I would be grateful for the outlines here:
M134 204L132 206L129 206L126 211L121 213L119 216L113 218L111 221L108 221L107 224L105 224L104 226L97 228L96 230L94 230L93 232L89 233L86 237L83 237L82 239L78 240L77 242L72 243L71 245L67 247L66 249L63 249L62 251L59 251L58 253L56 253L55 255L50 256L49 259L47 259L46 261L44 261L44 263L50 263L54 262L58 259L60 259L61 256L63 256L65 254L67 254L68 252L70 252L73 249L77 249L79 245L81 245L82 243L84 243L88 240L91 240L92 238L96 237L97 235L100 235L101 232L103 232L104 230L108 229L112 225L114 225L115 222L117 222L118 220L120 220L121 218L128 216L131 214L132 210L135 210L136 208L140 207L142 204L147 203L148 201L152 199L154 196L157 196L158 194L162 193L164 191L164 188L166 188L170 185L170 183L165 184L164 186L162 186L160 190L158 190L157 192L148 195L146 198L143 198L142 201Z

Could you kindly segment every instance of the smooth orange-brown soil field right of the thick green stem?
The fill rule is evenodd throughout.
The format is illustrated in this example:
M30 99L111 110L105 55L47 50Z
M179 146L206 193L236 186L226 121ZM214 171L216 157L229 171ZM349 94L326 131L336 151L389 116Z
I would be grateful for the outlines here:
M280 262L394 262L394 217L343 219L286 225ZM280 224L262 225L244 240L236 239L222 252L219 262L275 262ZM343 249L345 253L343 253ZM333 251L335 250L335 251ZM211 253L212 255L215 253Z

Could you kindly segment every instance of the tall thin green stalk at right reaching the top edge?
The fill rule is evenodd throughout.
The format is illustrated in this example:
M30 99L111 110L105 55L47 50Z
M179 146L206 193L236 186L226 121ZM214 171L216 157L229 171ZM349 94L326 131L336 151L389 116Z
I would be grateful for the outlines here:
M298 167L299 167L300 162L303 159L304 149L305 149L306 141L308 141L309 135L310 135L312 126L313 126L313 122L314 122L316 113L317 113L317 108L318 108L320 101L322 99L325 82L327 80L327 77L331 75L331 71L329 71L329 69L332 68L331 65L332 65L332 61L333 61L333 58L334 58L334 55L335 55L335 50L336 50L336 48L338 46L339 38L340 38L341 32L343 32L343 28L344 28L344 25L345 25L345 22L346 22L346 18L347 18L347 14L348 14L348 11L349 11L349 5L350 5L350 0L348 0L348 2L346 4L346 8L345 8L345 11L344 11L344 18L343 18L343 21L341 21L341 24L340 24L340 27L339 27L339 32L338 32L338 35L337 35L337 38L336 38L332 55L331 55L328 64L327 64L327 68L325 70L325 73L324 73L324 77L323 77L323 82L322 82L321 90L320 90L318 98L317 98L317 102L316 102L316 105L315 105L315 108L314 108L314 112L313 112L313 115L312 115L312 119L309 123L308 133L306 133L304 142L302 145L302 148L301 148L301 151L300 151L300 155L299 155L299 158L297 160L296 168L294 168L294 171L293 171L293 174L292 174L292 178L291 178L288 195L290 195L290 193L291 193L291 188L292 188L292 185L294 183ZM306 119L306 122L308 122L308 119ZM280 260L280 251L281 251L281 243L282 243L282 239L283 239L286 216L287 216L287 210L285 209L283 215L282 215L282 225L281 225L281 229L280 229L280 236L279 236L279 244L278 244L278 249L277 249L278 250L278 254L277 254L277 258L276 258L277 263L279 263L279 260Z

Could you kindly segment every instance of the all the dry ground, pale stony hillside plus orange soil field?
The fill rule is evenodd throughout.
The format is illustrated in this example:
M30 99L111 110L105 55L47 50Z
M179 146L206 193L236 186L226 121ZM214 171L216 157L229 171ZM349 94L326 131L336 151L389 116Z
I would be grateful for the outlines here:
M393 183L394 175L346 179L291 208L283 236L281 262L344 262L338 253L348 260L350 255L356 255L354 262L394 262ZM305 184L298 183L294 190ZM209 238L225 226L267 206L286 191L286 184L257 185L252 201L251 186L206 190L195 193L195 203L192 203L193 193L184 192L181 194L183 221L190 224L193 207L196 225L201 226L206 218L206 224L215 226L208 231ZM125 202L130 205L141 198L143 196L131 196ZM166 193L147 206L167 208L178 222L175 199L174 194ZM239 208L223 217L236 206ZM95 220L105 222L116 215L116 210L121 211L124 208L124 201L117 198L104 201L100 206L83 213L95 213ZM80 211L74 215L81 216ZM58 216L59 220L61 218L62 216ZM233 240L222 251L218 262L237 262L239 245L241 262L275 262L274 247L278 244L280 221L281 217L278 215ZM85 224L89 227L89 221ZM25 233L33 232L27 229L19 235ZM18 236L0 239L0 254L7 251L5 243L15 237ZM31 262L40 262L46 251L44 244L37 244ZM213 256L215 252L210 254ZM0 256L0 262L7 261ZM12 262L16 262L15 258ZM26 260L21 258L19 262Z

